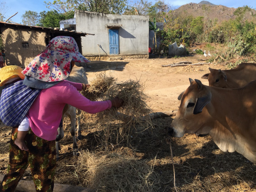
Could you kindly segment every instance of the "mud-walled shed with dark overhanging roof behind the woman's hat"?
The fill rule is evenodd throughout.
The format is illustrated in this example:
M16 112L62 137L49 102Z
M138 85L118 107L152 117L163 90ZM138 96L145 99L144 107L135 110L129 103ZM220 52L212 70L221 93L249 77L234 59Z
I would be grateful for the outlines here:
M85 37L86 33L0 22L7 65L26 67L52 38L60 35L73 37L82 53L81 36Z

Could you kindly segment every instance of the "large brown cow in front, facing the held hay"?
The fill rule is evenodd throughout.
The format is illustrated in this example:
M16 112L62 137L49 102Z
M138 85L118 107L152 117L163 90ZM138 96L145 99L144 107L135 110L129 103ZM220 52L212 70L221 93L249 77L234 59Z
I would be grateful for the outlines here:
M189 81L168 133L210 134L222 151L237 151L256 163L256 81L236 89Z

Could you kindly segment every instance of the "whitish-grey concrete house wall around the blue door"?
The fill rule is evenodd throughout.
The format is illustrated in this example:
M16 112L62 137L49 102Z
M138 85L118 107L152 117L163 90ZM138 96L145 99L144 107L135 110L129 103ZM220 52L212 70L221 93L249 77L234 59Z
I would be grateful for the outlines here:
M76 31L95 35L82 37L82 52L93 56L110 57L108 30L119 29L119 55L148 58L149 17L141 15L113 15L76 11ZM99 45L99 46L98 46Z

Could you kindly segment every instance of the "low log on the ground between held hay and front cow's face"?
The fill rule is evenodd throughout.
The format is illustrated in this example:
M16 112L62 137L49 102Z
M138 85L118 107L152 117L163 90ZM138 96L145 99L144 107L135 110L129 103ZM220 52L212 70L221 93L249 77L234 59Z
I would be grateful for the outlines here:
M167 116L175 116L176 113L177 113L177 110L165 111L165 112L153 112L153 113L150 113L148 115L141 116L139 118L135 118L133 116L126 115L126 114L118 112L116 114L117 115L116 117L117 117L117 119L119 119L121 121L126 121L126 122L129 122L129 121L145 122L145 121L149 121L149 120L152 120L152 119L158 119L158 118L167 117Z

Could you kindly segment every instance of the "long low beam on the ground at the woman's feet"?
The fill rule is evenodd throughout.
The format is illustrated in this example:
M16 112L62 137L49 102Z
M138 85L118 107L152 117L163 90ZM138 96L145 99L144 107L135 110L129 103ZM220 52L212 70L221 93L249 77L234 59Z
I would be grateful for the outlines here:
M0 174L0 181L2 182L4 175ZM24 192L35 192L35 184L34 181L25 181L20 180L16 189L17 191ZM70 186L66 184L54 183L53 192L95 192L96 190L83 188L80 186Z

